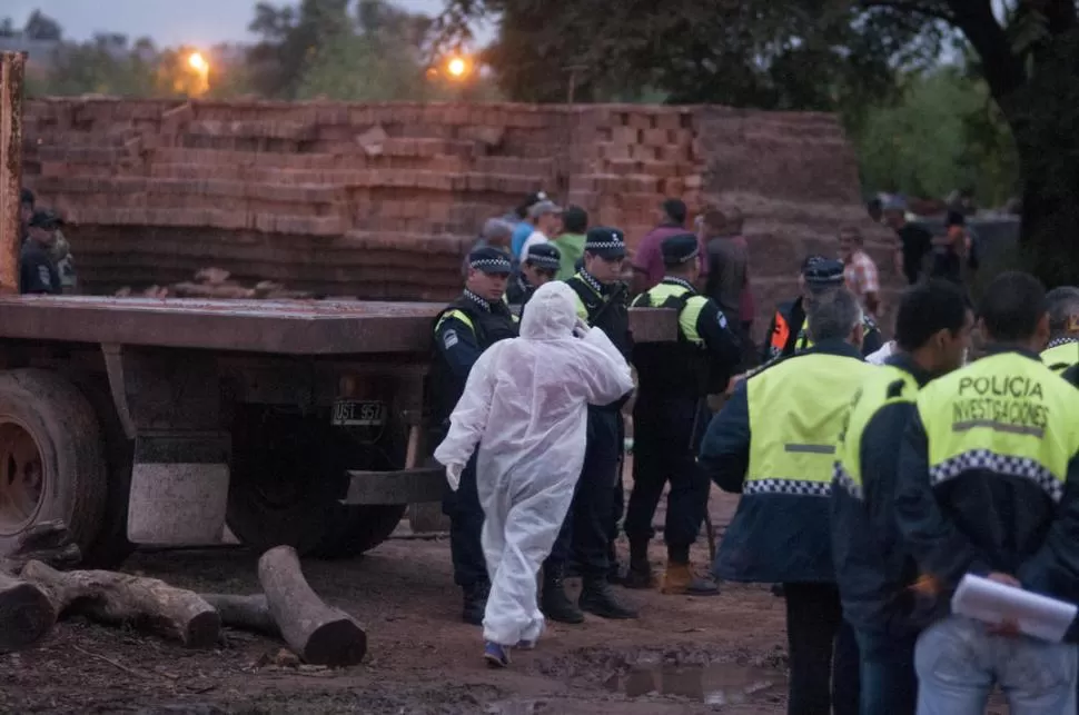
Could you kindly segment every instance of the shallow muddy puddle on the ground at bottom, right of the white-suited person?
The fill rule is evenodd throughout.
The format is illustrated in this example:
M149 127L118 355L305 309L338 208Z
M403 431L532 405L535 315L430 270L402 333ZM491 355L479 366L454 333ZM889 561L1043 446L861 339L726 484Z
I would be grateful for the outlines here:
M630 697L677 695L707 705L735 705L749 703L752 696L782 681L783 676L775 671L723 663L637 664L628 674L610 678L606 686Z

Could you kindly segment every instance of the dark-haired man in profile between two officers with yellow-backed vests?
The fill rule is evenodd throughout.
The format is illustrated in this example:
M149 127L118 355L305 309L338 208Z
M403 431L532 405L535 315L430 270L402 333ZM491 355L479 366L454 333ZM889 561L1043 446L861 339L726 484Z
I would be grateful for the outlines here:
M898 349L862 384L837 447L832 558L858 638L862 715L914 715L914 640L925 624L911 588L918 566L895 525L899 453L918 390L962 365L973 321L954 284L909 288L895 317Z

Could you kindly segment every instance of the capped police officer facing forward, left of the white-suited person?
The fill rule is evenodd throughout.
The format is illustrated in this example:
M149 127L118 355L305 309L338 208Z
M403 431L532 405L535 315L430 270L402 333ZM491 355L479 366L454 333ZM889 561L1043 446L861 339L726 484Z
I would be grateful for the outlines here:
M468 255L468 278L464 292L439 314L435 321L435 364L429 385L432 413L440 441L449 415L465 389L468 371L488 347L516 337L517 322L503 296L509 278L509 257L497 248L478 248ZM476 494L476 457L461 475L461 486L452 491L447 485L443 512L449 517L449 550L454 562L454 582L464 590L465 623L481 625L491 580L484 560L479 533L483 510Z

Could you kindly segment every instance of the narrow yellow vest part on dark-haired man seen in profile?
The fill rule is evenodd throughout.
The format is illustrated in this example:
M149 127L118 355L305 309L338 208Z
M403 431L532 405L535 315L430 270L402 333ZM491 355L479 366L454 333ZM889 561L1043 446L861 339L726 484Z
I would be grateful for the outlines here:
M898 367L884 365L867 379L854 394L847 426L835 448L832 480L855 499L863 496L862 435L873 417L889 405L913 403L918 396L918 380Z

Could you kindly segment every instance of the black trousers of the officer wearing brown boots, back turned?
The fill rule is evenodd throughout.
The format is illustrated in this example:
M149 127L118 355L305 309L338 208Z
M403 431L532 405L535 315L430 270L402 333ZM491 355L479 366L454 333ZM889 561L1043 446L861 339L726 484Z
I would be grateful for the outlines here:
M710 484L693 453L707 424L707 406L701 400L639 398L633 410L633 491L625 517L631 544L647 543L655 536L652 519L667 481L671 491L663 538L667 547L681 549L696 540Z

